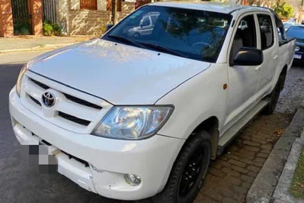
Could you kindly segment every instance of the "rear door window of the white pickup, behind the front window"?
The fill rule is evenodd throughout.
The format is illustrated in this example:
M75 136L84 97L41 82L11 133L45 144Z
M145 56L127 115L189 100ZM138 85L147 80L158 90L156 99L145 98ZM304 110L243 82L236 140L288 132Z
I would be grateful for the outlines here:
M258 23L261 33L262 50L268 49L273 45L273 28L271 17L265 14L258 14Z

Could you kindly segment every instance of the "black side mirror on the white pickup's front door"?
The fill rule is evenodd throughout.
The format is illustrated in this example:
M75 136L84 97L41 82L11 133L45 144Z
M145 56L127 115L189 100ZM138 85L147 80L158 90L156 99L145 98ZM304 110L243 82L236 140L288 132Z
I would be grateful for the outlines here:
M256 48L240 48L233 59L233 65L260 65L263 62L262 50Z

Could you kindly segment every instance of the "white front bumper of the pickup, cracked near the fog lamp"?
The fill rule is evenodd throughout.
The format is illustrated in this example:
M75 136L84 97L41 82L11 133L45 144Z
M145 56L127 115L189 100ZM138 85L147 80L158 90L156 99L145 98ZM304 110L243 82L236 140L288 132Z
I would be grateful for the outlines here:
M128 141L77 134L51 124L25 108L15 87L9 94L9 112L14 133L21 144L33 145L38 140L45 140L51 144L59 173L86 190L109 198L137 200L159 193L184 143L182 139L161 135ZM89 167L77 159L69 159L67 154L87 162ZM138 175L141 184L130 186L124 174Z

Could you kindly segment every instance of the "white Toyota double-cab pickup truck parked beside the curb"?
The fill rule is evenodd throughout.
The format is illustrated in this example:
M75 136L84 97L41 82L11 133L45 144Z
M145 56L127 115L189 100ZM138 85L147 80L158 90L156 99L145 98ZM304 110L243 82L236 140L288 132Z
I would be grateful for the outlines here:
M274 111L294 48L268 9L152 3L28 62L9 95L13 130L86 190L192 202L210 159Z

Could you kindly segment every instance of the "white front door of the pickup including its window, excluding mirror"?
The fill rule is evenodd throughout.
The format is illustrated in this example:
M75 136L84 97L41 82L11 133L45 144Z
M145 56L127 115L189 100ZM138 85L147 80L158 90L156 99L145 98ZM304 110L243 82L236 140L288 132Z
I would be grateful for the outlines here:
M233 58L242 47L257 48L257 24L253 14L239 18L234 28L229 51L228 98L224 131L246 113L256 101L259 66L233 65Z

